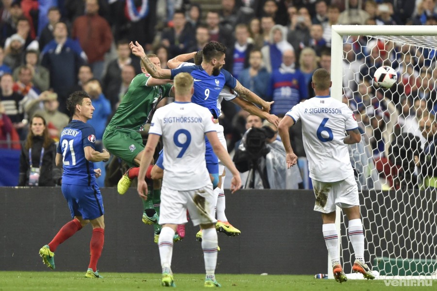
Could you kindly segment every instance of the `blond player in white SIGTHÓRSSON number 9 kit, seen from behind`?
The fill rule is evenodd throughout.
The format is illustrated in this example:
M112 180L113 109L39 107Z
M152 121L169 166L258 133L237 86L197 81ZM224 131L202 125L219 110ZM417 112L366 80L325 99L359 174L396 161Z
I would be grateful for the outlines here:
M158 247L161 257L163 286L174 286L171 272L173 236L178 224L186 223L188 209L194 225L203 229L202 249L205 262L205 287L220 287L215 279L218 238L217 220L210 205L214 203L211 180L205 163L205 135L214 152L233 174L231 190L241 187L241 179L228 152L220 144L216 125L208 109L191 103L194 80L188 73L174 78L175 102L156 110L151 121L149 138L141 158L138 194L147 198L146 170L151 163L160 136L163 137L164 177L161 191L162 230Z

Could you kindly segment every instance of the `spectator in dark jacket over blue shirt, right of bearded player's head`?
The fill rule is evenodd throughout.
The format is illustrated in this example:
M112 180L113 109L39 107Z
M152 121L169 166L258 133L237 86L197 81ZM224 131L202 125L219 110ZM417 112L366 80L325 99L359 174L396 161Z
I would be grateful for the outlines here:
M227 48L224 68L238 79L241 71L249 67L249 51L253 44L248 42L249 30L246 24L237 24L235 27L235 43Z

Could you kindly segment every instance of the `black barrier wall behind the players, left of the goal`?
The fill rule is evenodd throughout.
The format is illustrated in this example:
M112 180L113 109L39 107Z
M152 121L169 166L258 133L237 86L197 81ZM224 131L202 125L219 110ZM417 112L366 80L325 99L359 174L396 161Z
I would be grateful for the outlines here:
M118 195L102 188L105 244L98 269L103 272L160 273L153 227L141 222L136 191ZM218 234L218 274L325 273L327 250L312 191L240 190L226 193L226 215L239 237ZM71 220L60 188L0 188L0 270L49 270L38 255L59 228ZM85 272L91 225L56 250L56 271ZM185 239L174 244L175 273L203 273L198 231L187 224Z

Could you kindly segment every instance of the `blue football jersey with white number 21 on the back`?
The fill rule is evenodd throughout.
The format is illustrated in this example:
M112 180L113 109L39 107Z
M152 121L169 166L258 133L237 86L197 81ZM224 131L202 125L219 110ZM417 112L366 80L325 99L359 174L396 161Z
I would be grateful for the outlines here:
M80 120L72 120L64 128L57 153L62 154L64 173L62 183L91 186L96 184L94 164L85 158L85 147L95 149L94 128Z

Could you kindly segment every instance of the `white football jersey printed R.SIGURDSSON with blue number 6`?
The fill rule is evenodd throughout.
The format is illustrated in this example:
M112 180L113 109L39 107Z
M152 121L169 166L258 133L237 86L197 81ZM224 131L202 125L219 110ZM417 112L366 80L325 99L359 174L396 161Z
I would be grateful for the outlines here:
M353 175L346 130L358 128L352 110L330 96L316 96L287 112L302 121L303 146L310 177L320 182L341 181Z

